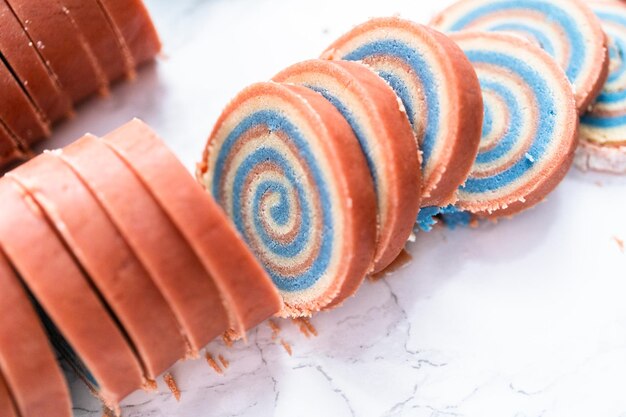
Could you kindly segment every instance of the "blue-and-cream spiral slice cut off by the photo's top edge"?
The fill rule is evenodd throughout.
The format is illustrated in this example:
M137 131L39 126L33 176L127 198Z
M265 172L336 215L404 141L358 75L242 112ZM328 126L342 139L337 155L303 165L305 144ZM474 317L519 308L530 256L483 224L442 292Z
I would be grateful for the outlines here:
M444 32L508 31L530 39L565 70L579 114L606 81L607 38L598 18L579 0L461 0L431 25Z

